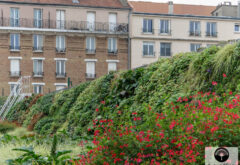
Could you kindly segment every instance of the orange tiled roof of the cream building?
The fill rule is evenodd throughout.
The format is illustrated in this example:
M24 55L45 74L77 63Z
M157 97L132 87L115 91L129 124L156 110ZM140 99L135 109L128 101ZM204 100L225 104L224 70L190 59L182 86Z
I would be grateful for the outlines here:
M168 14L168 3L129 1L133 12ZM216 6L173 4L173 14L176 15L196 15L211 16L211 12Z

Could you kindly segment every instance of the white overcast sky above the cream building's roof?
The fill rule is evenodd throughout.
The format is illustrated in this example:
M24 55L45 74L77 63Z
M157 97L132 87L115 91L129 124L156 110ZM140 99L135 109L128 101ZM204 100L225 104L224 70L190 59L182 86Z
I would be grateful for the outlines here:
M169 0L131 0L131 1L148 1L148 2L168 2ZM172 0L174 3L213 5L216 6L221 2L228 1L237 4L238 0Z

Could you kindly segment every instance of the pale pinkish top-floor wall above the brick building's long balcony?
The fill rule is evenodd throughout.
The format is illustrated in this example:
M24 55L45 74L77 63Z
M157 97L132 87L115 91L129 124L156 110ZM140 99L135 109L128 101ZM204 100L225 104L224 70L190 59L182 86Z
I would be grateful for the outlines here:
M108 22L109 13L117 13L117 23L128 23L128 11L116 9L102 9L102 8L84 8L84 7L69 7L69 6L31 6L31 5L14 5L14 4L0 4L0 11L2 11L4 18L9 18L10 8L19 8L20 18L32 19L34 9L43 10L43 19L49 18L56 20L56 11L65 10L66 21L87 21L87 12L96 13L96 22Z

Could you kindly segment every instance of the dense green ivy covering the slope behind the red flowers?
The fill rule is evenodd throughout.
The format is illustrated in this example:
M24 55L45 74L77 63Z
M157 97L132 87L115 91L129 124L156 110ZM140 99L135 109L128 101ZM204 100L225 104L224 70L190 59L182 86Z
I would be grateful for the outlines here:
M223 74L228 77L223 79ZM224 86L214 89L216 92L240 90L240 44L178 54L145 68L110 73L57 94L33 96L13 107L7 118L38 133L65 129L78 137L91 133L86 130L92 127L92 120L111 118L116 106L136 112L151 105L161 111L167 101L213 90L209 85L212 81L225 81ZM100 102L107 110L96 113Z

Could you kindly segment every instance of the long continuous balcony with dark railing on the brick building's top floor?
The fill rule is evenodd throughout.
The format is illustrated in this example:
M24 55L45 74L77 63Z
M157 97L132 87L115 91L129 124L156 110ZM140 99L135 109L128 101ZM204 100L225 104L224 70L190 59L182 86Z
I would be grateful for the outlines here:
M22 27L40 29L76 30L83 32L128 33L128 24L112 24L108 22L36 20L28 18L11 19L0 18L1 27Z

